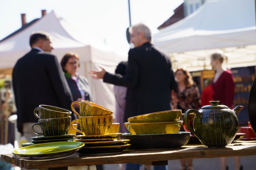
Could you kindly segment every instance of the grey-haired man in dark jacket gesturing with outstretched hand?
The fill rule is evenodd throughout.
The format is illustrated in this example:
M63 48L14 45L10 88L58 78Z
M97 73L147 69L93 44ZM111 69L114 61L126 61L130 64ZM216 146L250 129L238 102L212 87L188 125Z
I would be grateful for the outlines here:
M129 29L134 48L128 52L126 75L111 74L104 68L91 70L94 79L127 87L124 122L133 116L170 110L170 90L176 87L168 55L151 43L151 31L144 24ZM126 169L139 169L140 164L127 164ZM166 166L156 166L165 169Z

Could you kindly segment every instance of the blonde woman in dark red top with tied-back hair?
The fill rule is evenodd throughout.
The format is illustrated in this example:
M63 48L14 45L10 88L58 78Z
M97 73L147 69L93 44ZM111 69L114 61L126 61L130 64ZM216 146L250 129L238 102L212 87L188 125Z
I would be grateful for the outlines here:
M223 67L223 61L227 56L221 53L213 53L211 55L211 66L212 69L216 70L214 79L212 81L213 88L213 100L220 101L219 105L226 105L230 109L233 109L233 100L235 96L235 82L232 72ZM235 170L243 169L240 164L240 158L238 156L235 159ZM226 165L226 157L221 157L221 170L228 169Z

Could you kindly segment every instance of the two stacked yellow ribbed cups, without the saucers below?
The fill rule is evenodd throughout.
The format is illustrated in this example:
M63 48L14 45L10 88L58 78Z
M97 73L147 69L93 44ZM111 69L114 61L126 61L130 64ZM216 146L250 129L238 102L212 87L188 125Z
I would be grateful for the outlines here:
M80 106L79 113L74 110L74 104ZM110 132L113 121L113 111L85 100L73 102L71 109L78 116L77 120L71 122L71 128L75 131L87 136L103 135ZM74 123L79 123L81 130L76 129L73 126Z

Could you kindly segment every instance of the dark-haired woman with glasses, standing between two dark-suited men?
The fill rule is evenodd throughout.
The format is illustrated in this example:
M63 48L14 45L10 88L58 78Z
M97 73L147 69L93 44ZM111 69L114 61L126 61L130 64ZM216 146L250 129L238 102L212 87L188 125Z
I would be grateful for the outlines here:
M79 68L78 55L72 52L66 53L60 64L65 73L74 101L81 102L81 100L86 100L92 102L91 90L87 78L77 73ZM79 113L79 105L74 106L75 110Z

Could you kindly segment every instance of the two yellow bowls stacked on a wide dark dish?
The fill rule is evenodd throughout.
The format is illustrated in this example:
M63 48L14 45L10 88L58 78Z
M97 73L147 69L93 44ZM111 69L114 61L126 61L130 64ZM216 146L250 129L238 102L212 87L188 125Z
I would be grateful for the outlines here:
M185 145L190 132L179 132L183 121L180 121L181 110L150 113L128 118L124 123L129 133L122 139L130 139L134 149L177 148Z

